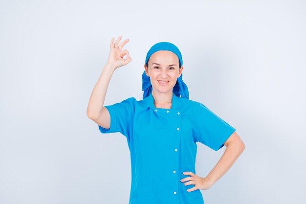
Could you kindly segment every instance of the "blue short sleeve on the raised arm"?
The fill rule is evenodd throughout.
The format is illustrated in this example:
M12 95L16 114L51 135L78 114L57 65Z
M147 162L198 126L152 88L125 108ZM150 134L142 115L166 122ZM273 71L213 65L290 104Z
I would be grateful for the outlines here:
M121 133L129 138L131 134L132 121L135 110L135 98L128 98L120 103L105 106L108 109L110 115L110 127L109 129L103 128L99 125L101 133Z

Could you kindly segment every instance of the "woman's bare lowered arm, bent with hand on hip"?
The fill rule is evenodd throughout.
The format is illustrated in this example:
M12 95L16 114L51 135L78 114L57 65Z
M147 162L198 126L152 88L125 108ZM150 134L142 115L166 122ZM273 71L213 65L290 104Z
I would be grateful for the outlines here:
M234 132L224 143L226 149L219 159L216 166L211 170L211 172L204 178L201 178L195 175L193 172L184 172L184 175L190 175L191 177L187 177L182 179L181 181L185 182L185 185L194 184L195 186L188 189L188 191L193 191L197 189L209 189L216 181L218 181L234 164L234 162L238 159L240 154L245 149L245 145L240 139L240 136Z

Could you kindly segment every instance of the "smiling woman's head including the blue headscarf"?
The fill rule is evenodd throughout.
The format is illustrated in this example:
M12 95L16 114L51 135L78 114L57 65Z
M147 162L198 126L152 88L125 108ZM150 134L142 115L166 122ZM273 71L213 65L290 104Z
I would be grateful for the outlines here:
M172 43L160 42L147 53L145 71L142 74L143 98L153 91L170 92L189 98L186 84L182 80L183 59L179 49Z

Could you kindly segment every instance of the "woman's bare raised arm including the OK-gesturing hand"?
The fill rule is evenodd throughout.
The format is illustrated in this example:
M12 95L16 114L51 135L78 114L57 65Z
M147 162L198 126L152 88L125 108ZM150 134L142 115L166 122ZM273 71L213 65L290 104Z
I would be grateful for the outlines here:
M110 127L109 111L103 106L110 78L116 68L131 62L129 51L126 49L122 50L123 46L129 42L129 39L118 45L120 40L121 36L119 36L114 44L114 38L111 38L108 62L102 69L102 73L91 92L87 107L87 117L104 128ZM123 59L125 55L127 58Z

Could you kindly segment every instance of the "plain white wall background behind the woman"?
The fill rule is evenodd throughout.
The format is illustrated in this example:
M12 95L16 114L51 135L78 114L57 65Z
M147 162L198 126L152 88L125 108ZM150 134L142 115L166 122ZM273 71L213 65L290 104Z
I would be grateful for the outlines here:
M0 203L127 204L126 137L87 118L111 37L129 38L104 105L141 99L150 47L174 43L190 99L237 129L245 150L205 204L302 204L305 1L0 1ZM219 151L197 143L198 176Z

